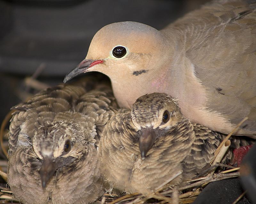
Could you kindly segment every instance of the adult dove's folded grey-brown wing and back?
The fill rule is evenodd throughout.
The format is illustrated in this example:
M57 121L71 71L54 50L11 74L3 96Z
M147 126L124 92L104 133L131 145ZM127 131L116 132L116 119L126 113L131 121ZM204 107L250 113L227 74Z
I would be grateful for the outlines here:
M180 33L184 55L202 85L212 125L213 113L238 124L240 134L256 133L256 1L213 1L188 13L163 30ZM186 95L180 97L184 103ZM192 107L191 107L192 108ZM224 126L224 123L219 124ZM218 128L212 128L218 130ZM225 131L221 131L225 132ZM225 132L228 133L228 132Z

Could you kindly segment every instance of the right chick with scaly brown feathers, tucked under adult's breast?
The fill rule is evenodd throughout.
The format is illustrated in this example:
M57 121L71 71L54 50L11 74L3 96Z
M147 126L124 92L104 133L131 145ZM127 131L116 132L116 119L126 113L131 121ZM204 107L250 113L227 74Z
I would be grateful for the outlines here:
M121 191L143 194L168 181L178 185L210 167L224 138L186 119L177 100L161 93L138 98L132 111L120 109L102 135L99 152L108 182ZM237 139L232 145L242 142ZM231 156L229 151L227 159Z

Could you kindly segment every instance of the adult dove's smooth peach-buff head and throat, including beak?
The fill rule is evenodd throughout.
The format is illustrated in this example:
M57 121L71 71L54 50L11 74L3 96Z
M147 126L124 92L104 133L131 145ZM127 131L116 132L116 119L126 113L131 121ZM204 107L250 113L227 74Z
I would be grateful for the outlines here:
M131 21L106 25L94 35L86 58L64 82L88 71L101 72L111 79L118 104L130 108L146 94L139 91L145 90L142 85L148 86L145 82L156 75L156 69L168 66L166 58L172 48L167 44L164 34L149 25Z

